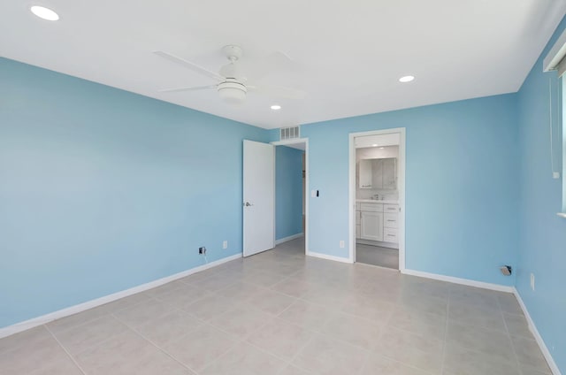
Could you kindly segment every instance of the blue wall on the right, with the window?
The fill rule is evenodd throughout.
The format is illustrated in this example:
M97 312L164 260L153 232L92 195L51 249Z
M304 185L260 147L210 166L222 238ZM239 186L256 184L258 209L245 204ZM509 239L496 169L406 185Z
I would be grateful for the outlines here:
M518 93L521 241L516 268L519 295L562 373L566 372L566 219L556 216L562 209L562 180L552 178L548 130L549 78L553 88L558 82L556 73L542 72L542 59L565 28L562 19ZM560 122L555 121L555 126ZM555 138L554 147L556 169L562 160L560 138ZM531 272L535 291L530 287Z

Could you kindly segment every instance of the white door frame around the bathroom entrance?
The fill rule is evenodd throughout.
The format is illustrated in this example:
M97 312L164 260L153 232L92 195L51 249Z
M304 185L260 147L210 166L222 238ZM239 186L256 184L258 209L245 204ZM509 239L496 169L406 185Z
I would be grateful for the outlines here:
M384 130L371 130L349 134L349 256L350 263L356 262L356 138L368 135L399 134L399 271L405 271L405 143L404 127L395 127Z

